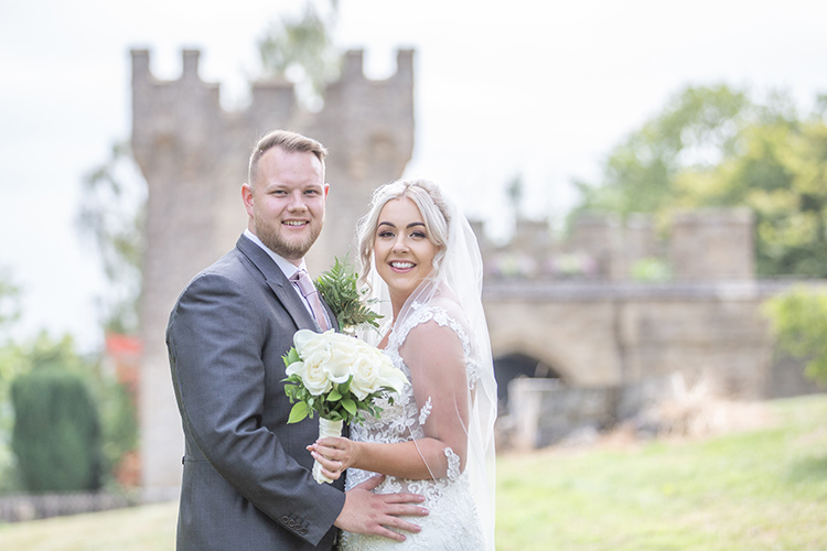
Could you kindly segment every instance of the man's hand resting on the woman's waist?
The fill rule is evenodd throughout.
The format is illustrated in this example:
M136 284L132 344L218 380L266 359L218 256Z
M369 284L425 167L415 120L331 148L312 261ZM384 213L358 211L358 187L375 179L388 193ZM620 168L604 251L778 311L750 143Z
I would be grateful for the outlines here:
M345 494L345 505L334 522L348 532L384 536L396 541L405 541L405 536L390 530L396 528L418 532L421 528L399 517L425 517L428 509L412 504L421 504L425 497L417 494L374 494L372 490L382 483L385 475L376 475Z

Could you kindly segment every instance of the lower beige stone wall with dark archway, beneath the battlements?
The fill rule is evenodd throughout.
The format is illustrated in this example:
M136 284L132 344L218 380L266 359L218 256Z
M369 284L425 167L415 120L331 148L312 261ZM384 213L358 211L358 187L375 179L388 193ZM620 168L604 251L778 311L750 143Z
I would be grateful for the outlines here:
M531 358L523 364L567 386L624 386L680 372L688 383L702 377L721 393L755 399L797 385L778 387L773 370L781 367L762 314L763 301L787 285L492 281L484 304L496 359ZM498 369L501 387L529 375L518 366Z

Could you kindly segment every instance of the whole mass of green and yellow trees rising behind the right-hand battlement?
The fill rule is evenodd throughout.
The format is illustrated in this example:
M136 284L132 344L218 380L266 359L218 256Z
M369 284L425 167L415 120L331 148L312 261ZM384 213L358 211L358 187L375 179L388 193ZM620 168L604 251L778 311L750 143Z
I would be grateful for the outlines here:
M614 148L577 210L749 206L761 276L827 277L827 100L806 117L783 94L759 104L726 86L687 88Z

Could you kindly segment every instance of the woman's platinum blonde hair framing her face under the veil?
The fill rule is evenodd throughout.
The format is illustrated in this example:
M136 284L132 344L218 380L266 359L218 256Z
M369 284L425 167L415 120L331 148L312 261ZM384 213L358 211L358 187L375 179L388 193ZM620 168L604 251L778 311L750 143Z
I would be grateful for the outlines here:
M432 276L439 274L442 259L448 247L448 227L451 223L445 199L433 182L428 180L397 180L377 187L370 199L370 209L357 225L356 248L359 260L358 287L370 287L369 273L373 269L374 239L379 224L379 213L387 202L393 199L411 199L422 215L428 239L439 247L433 257Z

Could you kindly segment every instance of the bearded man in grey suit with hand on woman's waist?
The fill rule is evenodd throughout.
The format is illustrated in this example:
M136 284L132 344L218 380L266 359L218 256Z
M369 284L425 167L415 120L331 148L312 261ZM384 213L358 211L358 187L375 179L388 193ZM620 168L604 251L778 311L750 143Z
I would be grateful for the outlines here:
M335 326L298 281L324 223L326 150L276 130L253 150L236 248L198 273L170 315L167 346L184 429L179 551L334 549L336 528L401 541L421 496L318 484L315 420L287 424L282 355L300 328ZM307 290L305 290L307 293Z

